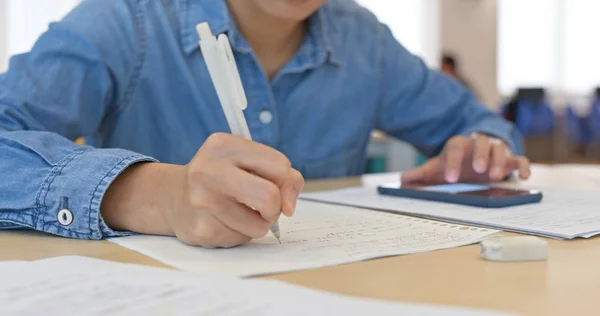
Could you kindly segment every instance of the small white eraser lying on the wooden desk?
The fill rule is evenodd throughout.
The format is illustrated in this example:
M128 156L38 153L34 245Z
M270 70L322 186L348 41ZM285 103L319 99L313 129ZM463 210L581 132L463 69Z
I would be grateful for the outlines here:
M548 242L533 236L492 237L480 243L481 256L490 261L542 261L548 259Z

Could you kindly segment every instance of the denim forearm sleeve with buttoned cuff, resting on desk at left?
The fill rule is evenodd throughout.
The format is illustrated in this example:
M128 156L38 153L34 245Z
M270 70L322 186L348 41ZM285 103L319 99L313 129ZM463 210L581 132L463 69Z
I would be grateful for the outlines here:
M121 149L78 146L42 132L2 133L0 152L5 175L0 223L80 239L129 234L104 223L102 198L128 166L155 161Z

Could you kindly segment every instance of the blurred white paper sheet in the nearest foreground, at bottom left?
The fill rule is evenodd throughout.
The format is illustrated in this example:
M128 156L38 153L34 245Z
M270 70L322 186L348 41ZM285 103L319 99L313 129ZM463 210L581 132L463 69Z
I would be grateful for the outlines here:
M505 314L362 300L277 281L189 275L83 257L0 263L3 315Z

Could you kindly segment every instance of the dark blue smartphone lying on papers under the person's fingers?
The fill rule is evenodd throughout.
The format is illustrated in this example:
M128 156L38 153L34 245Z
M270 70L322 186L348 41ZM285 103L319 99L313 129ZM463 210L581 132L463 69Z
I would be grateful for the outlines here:
M383 195L392 195L427 201L462 204L486 208L501 208L539 203L542 192L494 187L480 184L443 184L434 186L385 184L378 187Z

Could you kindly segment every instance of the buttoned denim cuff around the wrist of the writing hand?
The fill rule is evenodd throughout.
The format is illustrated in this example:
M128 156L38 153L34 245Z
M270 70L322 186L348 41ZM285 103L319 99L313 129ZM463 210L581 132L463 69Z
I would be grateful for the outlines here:
M131 235L110 229L100 205L110 184L127 167L157 160L121 149L85 149L72 153L45 179L38 192L35 229L78 239Z

